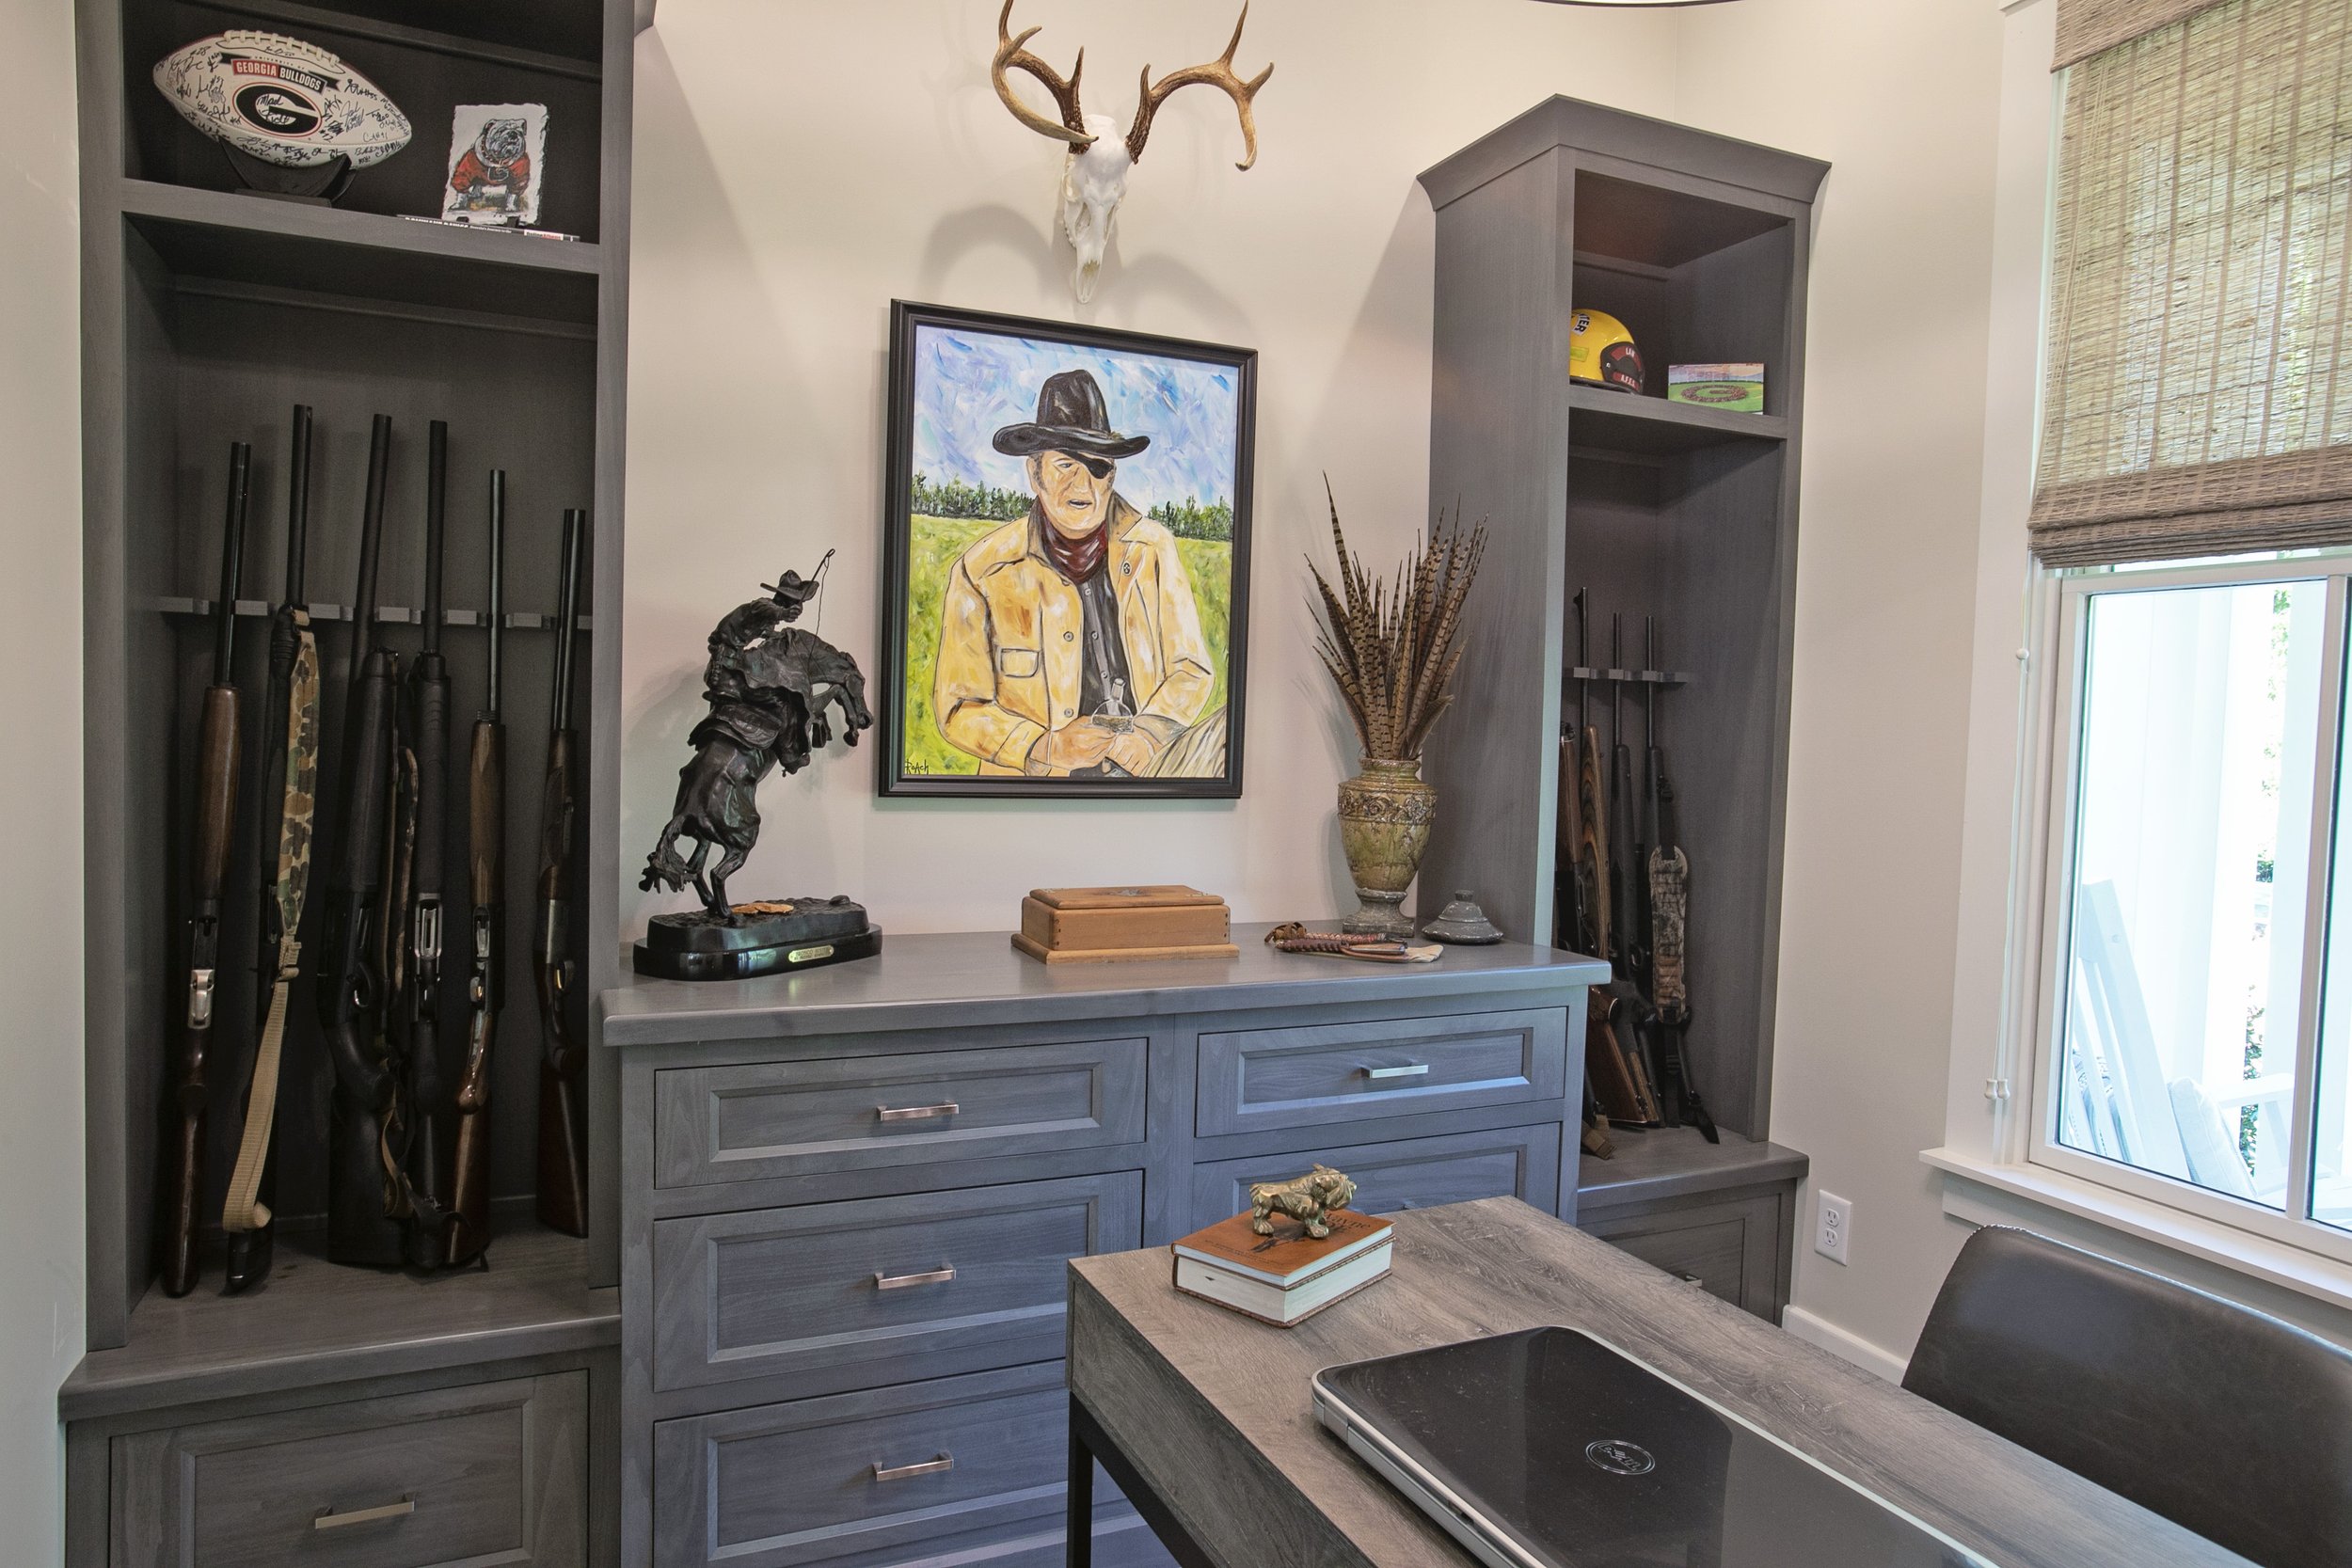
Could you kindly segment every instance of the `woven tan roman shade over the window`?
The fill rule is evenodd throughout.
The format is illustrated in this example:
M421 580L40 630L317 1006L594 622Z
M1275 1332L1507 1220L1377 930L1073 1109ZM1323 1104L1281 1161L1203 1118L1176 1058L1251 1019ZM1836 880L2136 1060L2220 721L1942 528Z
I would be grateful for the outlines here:
M2032 548L2352 543L2352 0L2223 0L2079 61Z

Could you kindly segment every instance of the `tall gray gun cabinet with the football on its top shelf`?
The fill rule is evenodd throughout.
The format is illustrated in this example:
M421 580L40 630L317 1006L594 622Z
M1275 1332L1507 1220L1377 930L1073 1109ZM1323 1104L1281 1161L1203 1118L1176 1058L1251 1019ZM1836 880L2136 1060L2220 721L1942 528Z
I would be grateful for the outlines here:
M188 1408L207 1418L386 1394L456 1368L583 1371L619 1342L609 1074L590 1051L590 1234L532 1220L539 1020L529 929L539 769L553 677L562 508L588 508L593 557L574 726L586 776L576 835L574 1027L619 980L621 463L628 313L630 0L78 0L82 148L85 534L85 1063L89 1354L61 1392L68 1429L68 1561L125 1561L108 1544L106 1443ZM219 148L148 82L169 49L230 28L325 45L409 115L414 136L362 169L339 207L247 195ZM576 240L407 221L437 214L456 103L548 103L543 226ZM308 597L325 693L322 846L341 757L360 498L369 418L393 416L379 625L416 649L423 581L426 425L449 421L447 602L487 602L487 473L508 473L506 1009L492 1088L487 1272L435 1279L327 1265L329 1074L313 983L294 992L278 1112L280 1237L273 1274L219 1298L219 1211L235 1157L238 1091L256 1020L261 691L266 614L285 588L287 444L315 409ZM160 1128L183 961L195 708L209 682L228 444L252 442L235 679L245 691L221 987L207 1063L207 1265L167 1300L155 1276ZM482 705L485 614L449 611L449 882L463 889L466 729ZM313 891L320 875L313 872ZM313 896L310 919L318 914ZM306 959L315 954L306 929ZM463 1046L461 1009L445 1060ZM522 1371L517 1371L522 1368ZM365 1382L362 1382L365 1380ZM242 1403L240 1403L242 1401ZM609 1458L609 1455L604 1455ZM120 1481L120 1476L118 1476ZM96 1495L92 1495L96 1488ZM602 1505L597 1505L602 1507ZM141 1549L153 1542L141 1542ZM186 1542L181 1542L186 1544ZM193 1547L191 1547L193 1549ZM160 1554L158 1554L160 1556Z

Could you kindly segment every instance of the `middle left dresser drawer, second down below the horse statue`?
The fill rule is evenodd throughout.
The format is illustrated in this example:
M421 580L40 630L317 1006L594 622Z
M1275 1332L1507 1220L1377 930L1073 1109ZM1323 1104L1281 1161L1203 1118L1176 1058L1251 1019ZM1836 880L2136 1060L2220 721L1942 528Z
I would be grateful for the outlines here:
M659 1220L654 1387L1049 1338L1070 1258L1143 1246L1143 1175Z

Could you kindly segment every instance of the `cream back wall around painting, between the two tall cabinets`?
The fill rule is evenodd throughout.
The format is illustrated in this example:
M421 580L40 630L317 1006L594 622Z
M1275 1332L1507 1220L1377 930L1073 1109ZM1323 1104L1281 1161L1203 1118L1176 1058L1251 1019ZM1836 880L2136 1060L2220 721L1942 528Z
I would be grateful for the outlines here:
M1211 59L1237 5L1021 0L1096 106ZM880 802L873 741L769 785L741 893L849 891L894 931L1004 929L1051 884L1190 882L1242 919L1345 891L1355 741L1308 651L1303 552L1395 559L1428 522L1432 216L1414 176L1555 92L1672 113L1675 24L1526 0L1261 0L1261 158L1178 94L1094 306L1049 230L1061 150L988 85L993 0L663 0L637 52L621 929L680 907L635 870L701 717L710 623L837 545L823 632L875 672L889 301L1247 343L1258 517L1247 795L1218 804Z

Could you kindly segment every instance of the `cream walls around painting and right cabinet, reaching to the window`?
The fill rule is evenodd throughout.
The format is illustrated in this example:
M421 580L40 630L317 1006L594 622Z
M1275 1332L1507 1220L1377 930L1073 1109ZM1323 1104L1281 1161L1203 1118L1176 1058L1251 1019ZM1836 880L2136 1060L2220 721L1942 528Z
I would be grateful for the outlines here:
M1425 522L1428 200L1414 174L1566 92L1828 158L1816 228L1773 1133L1856 1199L1853 1262L1799 1248L1797 1324L1910 1347L1959 1244L1940 1140L1959 900L2002 19L1990 0L1740 0L1661 16L1529 0L1263 0L1232 113L1155 127L1091 308L1049 207L1061 153L995 101L993 0L663 0L640 45L621 929L668 816L713 618L840 545L826 635L868 663L891 296L1261 350L1249 792L1214 806L880 802L873 759L771 785L743 891L851 891L894 929L988 929L1054 882L1181 879L1244 919L1336 912L1355 762L1312 665L1319 475L1374 557ZM1051 61L1207 56L1223 5L1021 0ZM816 66L793 61L818 61ZM2025 371L2030 376L2030 371ZM1818 1267L1816 1267L1818 1265ZM1851 1345L1849 1345L1851 1349ZM1867 1352L1865 1352L1867 1354Z

